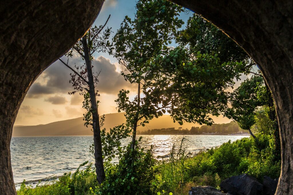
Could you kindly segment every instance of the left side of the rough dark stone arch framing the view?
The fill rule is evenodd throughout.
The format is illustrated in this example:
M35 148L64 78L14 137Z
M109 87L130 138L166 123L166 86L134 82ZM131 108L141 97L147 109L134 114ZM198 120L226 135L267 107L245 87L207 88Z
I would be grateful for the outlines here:
M0 6L0 194L16 194L12 126L33 81L84 35L103 0L11 0Z

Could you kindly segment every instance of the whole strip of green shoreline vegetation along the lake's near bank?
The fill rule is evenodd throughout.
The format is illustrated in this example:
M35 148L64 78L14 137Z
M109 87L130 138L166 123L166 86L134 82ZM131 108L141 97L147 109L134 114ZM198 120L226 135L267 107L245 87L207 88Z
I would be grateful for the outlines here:
M163 161L155 161L151 150L144 151L139 145L131 151L129 144L119 163L105 165L106 180L101 185L89 164L72 177L64 174L55 182L35 188L23 183L18 194L187 194L190 187L197 185L219 188L222 180L242 173L260 182L264 175L279 177L281 163L275 158L274 137L265 134L256 137L258 141L252 138L229 141L190 158L182 144L174 145L169 159ZM182 141L185 139L188 137Z

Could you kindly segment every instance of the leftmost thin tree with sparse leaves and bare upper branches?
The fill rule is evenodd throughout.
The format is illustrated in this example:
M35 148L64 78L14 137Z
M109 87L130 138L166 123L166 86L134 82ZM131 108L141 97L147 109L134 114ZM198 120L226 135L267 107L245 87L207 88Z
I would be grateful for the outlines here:
M73 92L69 94L75 94L79 92L80 95L84 96L83 108L86 109L87 113L84 114L84 125L88 127L91 125L93 128L93 141L94 141L94 157L95 157L95 167L97 174L97 181L101 184L105 180L105 170L103 165L103 151L102 151L102 140L101 140L101 130L100 130L100 121L98 113L98 103L96 96L100 96L98 90L96 90L96 84L98 82L98 75L100 73L93 73L93 53L94 52L105 52L105 46L109 44L106 42L110 36L110 28L106 28L103 32L105 25L107 24L110 15L102 26L91 27L88 32L80 39L66 54L68 57L73 56L73 52L80 55L84 61L84 65L81 66L71 66L59 60L67 66L73 73L71 73L71 84L74 87Z

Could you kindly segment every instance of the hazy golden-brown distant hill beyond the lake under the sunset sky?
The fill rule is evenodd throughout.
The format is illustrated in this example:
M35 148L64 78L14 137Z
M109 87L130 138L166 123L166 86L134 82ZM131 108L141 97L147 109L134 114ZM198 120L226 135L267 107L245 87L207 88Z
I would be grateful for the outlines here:
M74 118L69 120L62 120L57 122L48 123L45 125L34 126L14 126L12 136L66 136L66 135L92 135L91 127L84 126L83 117ZM117 125L125 122L124 113L112 113L105 115L104 127L109 130ZM219 120L219 118L217 119ZM221 121L223 119L221 118ZM224 119L226 122L227 119ZM215 120L216 122L216 120ZM229 122L229 121L228 121ZM159 118L154 118L145 127L139 126L137 130L145 131L148 129L161 129L175 127L176 129L182 127L183 129L191 127L200 127L194 123L184 123L182 126L177 122L174 123L170 115L163 115Z

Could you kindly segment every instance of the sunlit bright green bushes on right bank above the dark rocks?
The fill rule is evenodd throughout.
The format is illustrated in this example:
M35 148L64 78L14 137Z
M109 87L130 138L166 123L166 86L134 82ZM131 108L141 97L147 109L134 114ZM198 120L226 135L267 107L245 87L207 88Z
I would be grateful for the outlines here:
M257 138L259 142L242 138L198 154L187 163L191 170L190 177L202 177L207 173L218 174L221 180L242 173L248 173L259 181L263 180L264 175L279 177L280 160L274 158L273 137L257 134Z

